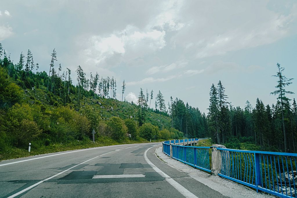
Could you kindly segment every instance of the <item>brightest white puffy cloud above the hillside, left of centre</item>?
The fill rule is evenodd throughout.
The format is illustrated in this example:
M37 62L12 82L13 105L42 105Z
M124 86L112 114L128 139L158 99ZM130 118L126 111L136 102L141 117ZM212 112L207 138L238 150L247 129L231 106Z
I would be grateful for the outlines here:
M122 31L115 31L108 37L93 35L89 46L83 52L89 64L100 64L114 55L120 54L125 60L140 58L165 47L165 31L141 31L128 25Z

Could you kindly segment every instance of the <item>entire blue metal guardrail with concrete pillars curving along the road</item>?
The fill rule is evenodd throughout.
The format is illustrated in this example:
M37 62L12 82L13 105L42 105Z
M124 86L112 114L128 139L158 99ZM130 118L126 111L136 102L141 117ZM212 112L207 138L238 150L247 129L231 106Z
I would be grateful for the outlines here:
M207 138L203 138L207 139ZM236 150L222 145L185 146L203 139L169 140L163 152L192 167L212 172L258 191L297 198L297 154ZM210 153L210 150L211 149ZM211 157L210 157L211 154ZM210 159L212 167L210 167ZM217 174L215 174L217 172Z

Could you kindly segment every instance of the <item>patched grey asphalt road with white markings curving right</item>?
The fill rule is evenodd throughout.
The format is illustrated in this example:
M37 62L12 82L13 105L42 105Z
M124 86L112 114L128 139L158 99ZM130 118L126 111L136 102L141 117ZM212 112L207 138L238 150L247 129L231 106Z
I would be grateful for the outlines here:
M158 143L0 162L0 197L224 197L159 160Z

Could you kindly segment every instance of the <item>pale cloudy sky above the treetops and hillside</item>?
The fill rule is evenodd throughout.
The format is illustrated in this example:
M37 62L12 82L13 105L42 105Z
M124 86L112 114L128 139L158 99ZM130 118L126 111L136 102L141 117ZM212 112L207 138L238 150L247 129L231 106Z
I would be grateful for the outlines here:
M296 78L297 1L1 1L0 42L14 63L30 49L47 72L55 48L74 83L78 65L113 76L118 99L125 80L129 102L140 88L160 90L166 104L172 96L207 113L221 80L233 106L271 105L276 64ZM296 79L287 90L297 93Z

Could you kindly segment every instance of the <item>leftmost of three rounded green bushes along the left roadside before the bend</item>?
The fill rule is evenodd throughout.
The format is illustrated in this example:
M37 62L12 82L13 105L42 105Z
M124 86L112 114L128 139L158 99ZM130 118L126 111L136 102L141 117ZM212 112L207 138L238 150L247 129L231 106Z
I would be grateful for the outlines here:
M111 117L106 124L114 140L122 141L127 137L127 127L121 118Z

